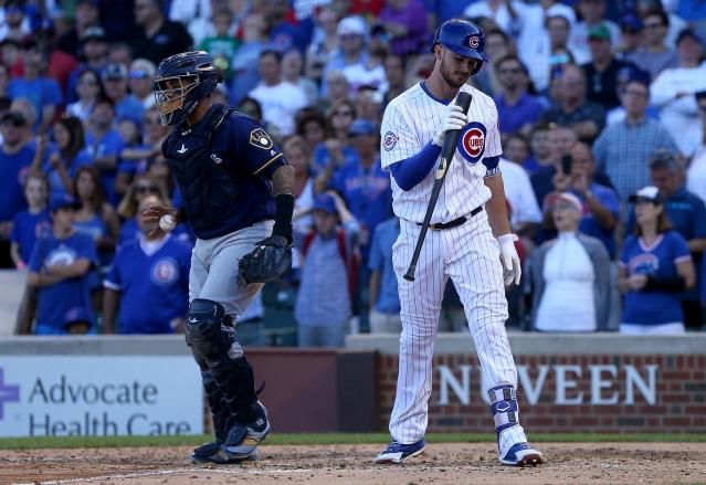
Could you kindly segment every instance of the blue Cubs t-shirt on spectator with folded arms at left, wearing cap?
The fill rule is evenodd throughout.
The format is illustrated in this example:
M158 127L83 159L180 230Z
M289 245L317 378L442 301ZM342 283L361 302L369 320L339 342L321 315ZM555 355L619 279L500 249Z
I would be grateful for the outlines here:
M93 265L96 264L96 250L91 236L74 232L69 238L57 239L50 231L34 244L30 271L39 273L50 266L67 266L77 260L88 260ZM88 274L40 288L36 334L66 334L64 320L69 310L91 308Z

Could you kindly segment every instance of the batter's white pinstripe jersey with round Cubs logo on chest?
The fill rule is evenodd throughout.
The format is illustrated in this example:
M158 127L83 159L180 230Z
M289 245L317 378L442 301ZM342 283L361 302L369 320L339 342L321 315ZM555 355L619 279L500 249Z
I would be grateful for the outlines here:
M486 168L484 158L502 155L497 107L488 95L464 85L461 91L473 95L468 108L468 125L462 130L453 161L446 175L431 222L449 222L467 215L483 205L491 191L483 178ZM452 101L455 103L455 99ZM434 98L418 83L390 102L384 110L380 128L380 154L382 168L410 158L421 151L431 140L434 129L446 112L446 104ZM403 191L392 179L392 208L401 219L422 222L434 184L434 172L409 191Z

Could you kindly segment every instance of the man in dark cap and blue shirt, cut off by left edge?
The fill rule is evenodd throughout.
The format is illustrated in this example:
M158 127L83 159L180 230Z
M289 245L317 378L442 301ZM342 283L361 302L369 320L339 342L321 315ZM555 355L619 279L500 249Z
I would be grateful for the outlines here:
M0 267L14 267L10 259L12 220L18 212L27 209L22 186L35 152L27 128L27 119L19 112L10 110L0 118Z

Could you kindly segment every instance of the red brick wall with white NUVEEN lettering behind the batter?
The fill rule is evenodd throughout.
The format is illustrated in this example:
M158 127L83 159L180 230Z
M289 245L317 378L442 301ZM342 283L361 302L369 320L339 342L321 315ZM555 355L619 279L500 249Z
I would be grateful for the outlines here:
M704 355L520 355L516 362L520 422L531 432L706 432ZM380 430L397 366L397 356L378 355ZM430 431L492 431L475 356L436 356L433 370Z

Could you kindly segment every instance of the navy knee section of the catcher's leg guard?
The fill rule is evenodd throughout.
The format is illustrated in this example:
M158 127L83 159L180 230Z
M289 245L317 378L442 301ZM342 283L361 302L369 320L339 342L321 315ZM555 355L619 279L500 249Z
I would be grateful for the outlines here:
M230 316L223 306L210 299L197 298L189 306L185 337L187 345L207 362L229 352L232 346L231 335L223 331L221 325L230 325ZM202 369L203 370L203 369Z

